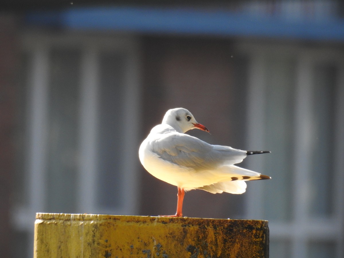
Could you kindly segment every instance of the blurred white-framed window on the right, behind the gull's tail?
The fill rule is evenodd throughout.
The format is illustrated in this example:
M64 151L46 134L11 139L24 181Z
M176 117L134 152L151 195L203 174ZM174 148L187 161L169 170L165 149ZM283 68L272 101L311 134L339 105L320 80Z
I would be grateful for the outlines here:
M248 144L270 150L250 169L247 218L267 219L271 257L343 257L344 56L250 46ZM258 193L258 194L257 194Z

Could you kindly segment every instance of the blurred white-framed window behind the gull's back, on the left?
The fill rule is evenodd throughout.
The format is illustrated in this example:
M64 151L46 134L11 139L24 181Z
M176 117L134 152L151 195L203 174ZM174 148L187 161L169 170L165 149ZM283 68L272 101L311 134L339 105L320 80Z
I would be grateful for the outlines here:
M17 235L32 256L36 212L137 213L134 37L23 37Z

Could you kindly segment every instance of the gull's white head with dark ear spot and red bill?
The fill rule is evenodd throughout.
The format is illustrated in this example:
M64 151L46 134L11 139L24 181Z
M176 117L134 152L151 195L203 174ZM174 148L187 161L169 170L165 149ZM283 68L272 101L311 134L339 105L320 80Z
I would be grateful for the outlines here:
M172 126L177 132L182 133L195 128L209 132L205 126L197 123L191 112L185 108L170 109L166 112L162 123L166 123Z

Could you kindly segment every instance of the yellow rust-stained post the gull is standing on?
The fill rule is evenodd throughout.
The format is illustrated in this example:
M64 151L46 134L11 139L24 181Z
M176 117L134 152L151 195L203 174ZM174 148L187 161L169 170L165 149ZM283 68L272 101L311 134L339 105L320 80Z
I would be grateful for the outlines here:
M37 213L34 258L268 257L267 221Z

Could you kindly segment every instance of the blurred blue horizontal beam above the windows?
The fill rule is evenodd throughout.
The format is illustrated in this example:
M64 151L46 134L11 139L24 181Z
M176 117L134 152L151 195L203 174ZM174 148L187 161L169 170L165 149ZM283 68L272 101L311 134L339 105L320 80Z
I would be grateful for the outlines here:
M221 10L71 8L56 12L30 12L26 15L26 23L76 30L344 41L344 19L286 20Z

